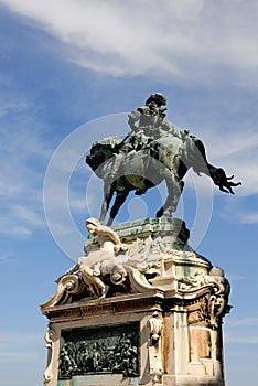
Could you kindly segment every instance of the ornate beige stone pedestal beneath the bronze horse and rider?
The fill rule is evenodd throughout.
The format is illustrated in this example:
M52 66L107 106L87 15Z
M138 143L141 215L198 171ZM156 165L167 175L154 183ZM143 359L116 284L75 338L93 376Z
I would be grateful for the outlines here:
M88 239L41 305L50 320L44 385L224 386L223 270L191 249L180 219L112 229L127 250L105 255Z

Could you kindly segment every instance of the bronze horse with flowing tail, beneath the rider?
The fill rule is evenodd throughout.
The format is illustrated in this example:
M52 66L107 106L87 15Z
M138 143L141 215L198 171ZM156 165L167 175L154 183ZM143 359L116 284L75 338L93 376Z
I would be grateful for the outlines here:
M136 137L133 140L136 144ZM162 181L166 183L168 197L157 212L157 217L171 215L176 210L184 186L182 180L190 168L198 175L204 173L211 176L214 184L226 193L234 194L232 187L240 184L232 181L234 175L228 178L222 168L209 164L203 142L187 132L182 133L181 138L168 133L150 140L144 147L136 146L136 150L129 151L125 149L125 141L119 137L108 137L93 144L86 163L104 180L100 222L105 221L112 195L117 193L108 226L130 191L143 194Z

